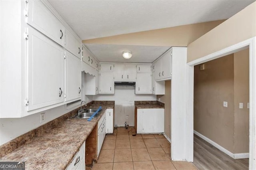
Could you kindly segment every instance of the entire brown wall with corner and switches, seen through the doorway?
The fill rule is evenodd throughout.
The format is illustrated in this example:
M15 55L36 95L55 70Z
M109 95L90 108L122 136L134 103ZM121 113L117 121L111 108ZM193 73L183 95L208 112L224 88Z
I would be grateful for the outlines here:
M248 59L245 49L194 67L194 130L232 153L249 150Z

